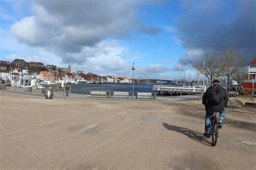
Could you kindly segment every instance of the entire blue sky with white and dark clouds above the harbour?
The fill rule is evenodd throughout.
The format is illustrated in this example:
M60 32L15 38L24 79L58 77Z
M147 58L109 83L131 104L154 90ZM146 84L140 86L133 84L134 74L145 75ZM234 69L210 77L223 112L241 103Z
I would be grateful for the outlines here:
M0 60L130 77L134 62L136 79L188 80L206 53L256 58L255 9L255 0L2 0Z

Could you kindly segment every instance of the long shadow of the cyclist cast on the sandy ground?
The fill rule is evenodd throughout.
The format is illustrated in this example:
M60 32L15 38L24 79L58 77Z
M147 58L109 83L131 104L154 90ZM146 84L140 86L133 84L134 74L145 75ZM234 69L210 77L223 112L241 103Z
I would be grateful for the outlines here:
M200 133L200 132L194 131L194 130L190 130L190 129L187 129L187 128L183 128L183 127L180 127L180 126L170 125L170 124L167 124L167 123L162 123L162 125L168 130L176 131L178 133L185 134L190 139L198 141L201 144L211 146L211 143L206 138L204 138L203 133Z

